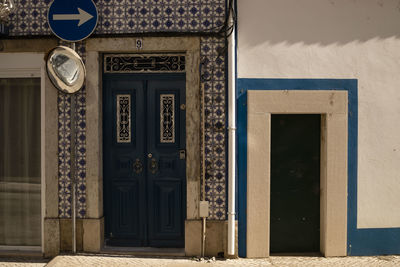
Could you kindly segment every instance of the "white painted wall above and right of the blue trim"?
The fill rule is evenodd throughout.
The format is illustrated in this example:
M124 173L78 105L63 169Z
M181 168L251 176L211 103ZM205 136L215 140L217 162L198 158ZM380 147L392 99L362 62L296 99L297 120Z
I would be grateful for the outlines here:
M358 79L358 227L400 227L400 1L238 0L238 77Z

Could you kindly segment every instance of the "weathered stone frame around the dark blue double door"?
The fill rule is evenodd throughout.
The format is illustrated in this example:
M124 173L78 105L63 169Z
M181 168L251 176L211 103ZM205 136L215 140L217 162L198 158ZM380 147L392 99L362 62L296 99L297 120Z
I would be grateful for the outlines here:
M87 178L83 250L99 252L104 245L102 150L102 53L185 53L186 56L186 220L199 219L200 200L200 38L134 37L86 40ZM186 237L185 237L186 239ZM185 246L188 242L185 240Z

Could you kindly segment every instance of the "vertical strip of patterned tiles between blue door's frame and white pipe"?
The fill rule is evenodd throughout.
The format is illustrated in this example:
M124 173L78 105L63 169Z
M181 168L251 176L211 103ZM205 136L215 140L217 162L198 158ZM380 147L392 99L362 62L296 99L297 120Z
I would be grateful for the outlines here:
M226 215L225 58L219 55L224 45L223 38L201 38L205 193L213 219L225 219Z

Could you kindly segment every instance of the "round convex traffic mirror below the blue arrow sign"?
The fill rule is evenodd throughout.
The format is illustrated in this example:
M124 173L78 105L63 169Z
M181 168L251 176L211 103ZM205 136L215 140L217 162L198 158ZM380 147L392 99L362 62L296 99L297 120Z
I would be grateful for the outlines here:
M64 93L76 93L85 82L85 65L81 57L69 47L58 46L51 50L46 67L51 82Z

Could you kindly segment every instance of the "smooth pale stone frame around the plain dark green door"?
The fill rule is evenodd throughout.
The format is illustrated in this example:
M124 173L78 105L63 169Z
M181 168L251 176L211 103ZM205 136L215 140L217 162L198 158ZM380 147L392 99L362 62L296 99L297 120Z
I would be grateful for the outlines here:
M321 114L320 251L346 256L348 93L247 91L247 257L269 256L271 114Z

